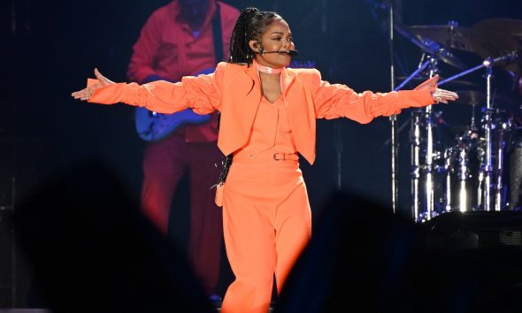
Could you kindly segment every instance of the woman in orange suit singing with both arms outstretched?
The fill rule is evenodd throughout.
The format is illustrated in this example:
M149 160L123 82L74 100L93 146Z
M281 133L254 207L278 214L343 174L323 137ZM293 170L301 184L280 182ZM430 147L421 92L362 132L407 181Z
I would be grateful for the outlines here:
M457 94L436 87L438 77L415 90L356 93L321 80L315 69L288 69L295 52L279 14L247 8L237 19L230 57L215 73L178 83L97 80L73 97L91 103L127 103L173 113L220 111L219 149L233 158L223 186L226 255L235 280L221 311L268 312L275 273L280 292L311 237L311 210L297 152L315 158L316 118L373 118L404 108L448 103Z

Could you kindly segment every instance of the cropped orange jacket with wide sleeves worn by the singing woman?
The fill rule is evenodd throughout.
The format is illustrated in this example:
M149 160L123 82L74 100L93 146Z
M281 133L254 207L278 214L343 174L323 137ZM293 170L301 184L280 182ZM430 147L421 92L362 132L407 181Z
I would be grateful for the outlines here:
M427 90L356 93L345 85L321 80L315 69L285 69L281 75L296 149L311 164L315 160L316 118L344 117L369 123L379 116L398 114L404 108L434 103ZM123 102L163 113L188 107L200 114L219 110L222 115L218 146L225 155L241 149L248 141L260 101L261 88L254 66L224 62L219 63L215 73L184 77L180 83L114 84L97 89L89 100Z

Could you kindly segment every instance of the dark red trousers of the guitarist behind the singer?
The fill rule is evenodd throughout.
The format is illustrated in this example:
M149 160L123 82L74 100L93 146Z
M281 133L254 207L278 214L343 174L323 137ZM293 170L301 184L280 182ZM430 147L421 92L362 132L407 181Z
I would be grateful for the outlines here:
M142 210L166 235L171 202L178 182L188 170L190 236L188 261L208 293L219 279L223 233L222 211L214 203L221 152L215 141L185 142L173 134L150 143L143 157Z

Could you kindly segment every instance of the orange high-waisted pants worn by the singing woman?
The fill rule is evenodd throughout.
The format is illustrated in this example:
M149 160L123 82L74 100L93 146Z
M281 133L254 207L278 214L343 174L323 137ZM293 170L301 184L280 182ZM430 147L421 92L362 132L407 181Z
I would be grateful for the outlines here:
M251 162L250 162L251 161ZM296 160L234 157L223 195L226 256L235 280L223 313L267 313L311 237L311 210Z

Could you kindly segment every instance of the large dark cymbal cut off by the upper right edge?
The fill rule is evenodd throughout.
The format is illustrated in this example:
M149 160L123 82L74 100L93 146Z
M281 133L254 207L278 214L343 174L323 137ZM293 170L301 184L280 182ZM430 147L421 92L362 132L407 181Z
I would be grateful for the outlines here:
M470 40L480 57L500 57L522 48L522 20L484 19L472 26ZM510 65L510 70L517 65Z

